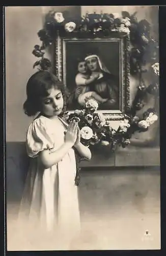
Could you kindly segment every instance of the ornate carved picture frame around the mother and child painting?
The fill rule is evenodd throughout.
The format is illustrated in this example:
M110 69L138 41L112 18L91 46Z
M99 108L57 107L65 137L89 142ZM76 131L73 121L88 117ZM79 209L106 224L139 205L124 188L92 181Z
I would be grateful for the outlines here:
M130 64L129 64L129 36L126 33L113 33L112 36L103 38L56 38L55 70L57 77L64 82L66 87L66 44L70 41L118 41L120 50L120 110L98 110L106 120L121 120L130 109ZM72 111L70 111L72 112Z

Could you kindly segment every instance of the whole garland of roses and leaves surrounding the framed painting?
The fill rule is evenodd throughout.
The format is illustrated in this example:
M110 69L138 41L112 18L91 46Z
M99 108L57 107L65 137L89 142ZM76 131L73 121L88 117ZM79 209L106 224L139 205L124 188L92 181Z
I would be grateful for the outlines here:
M64 117L70 122L73 118L78 121L81 141L87 146L103 144L110 146L115 151L117 145L122 147L130 144L130 138L135 131L147 131L158 116L155 109L149 109L143 114L143 119L135 116L136 111L143 108L146 93L159 94L159 61L158 42L150 36L150 24L146 19L137 21L136 12L130 15L123 11L122 17L116 14L87 13L79 18L72 18L66 12L49 11L45 16L43 29L38 36L42 41L41 46L35 45L33 54L40 58L34 63L34 68L49 70L51 62L44 58L44 50L55 41L57 35L68 37L109 37L112 33L126 33L130 38L130 73L139 74L140 83L130 111L125 119L120 122L118 130L114 130L96 110L98 103L94 100L87 102L85 110L76 110L74 113L65 113ZM146 63L151 63L149 71L144 70ZM151 72L152 83L145 86L142 78L143 72Z

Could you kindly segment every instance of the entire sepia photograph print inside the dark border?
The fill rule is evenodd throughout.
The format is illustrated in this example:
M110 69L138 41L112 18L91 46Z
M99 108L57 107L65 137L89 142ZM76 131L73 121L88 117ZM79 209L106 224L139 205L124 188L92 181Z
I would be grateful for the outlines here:
M7 251L161 248L158 9L4 7Z

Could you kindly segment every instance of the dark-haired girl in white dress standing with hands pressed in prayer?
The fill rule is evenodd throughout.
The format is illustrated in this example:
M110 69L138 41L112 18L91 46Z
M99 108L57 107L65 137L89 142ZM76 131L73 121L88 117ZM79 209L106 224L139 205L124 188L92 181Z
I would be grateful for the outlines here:
M75 156L90 160L91 152L80 142L78 124L73 121L68 125L60 117L65 92L56 76L38 71L27 82L26 94L25 114L38 115L26 135L32 162L19 218L34 231L55 232L64 243L63 238L72 238L80 227Z

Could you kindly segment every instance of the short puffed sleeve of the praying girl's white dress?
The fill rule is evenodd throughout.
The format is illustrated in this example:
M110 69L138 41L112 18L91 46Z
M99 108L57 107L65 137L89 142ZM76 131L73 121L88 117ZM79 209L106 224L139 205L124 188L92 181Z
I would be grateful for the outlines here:
M49 134L46 123L40 118L34 120L27 130L26 151L29 157L37 157L43 150L51 150L54 147L53 139Z

